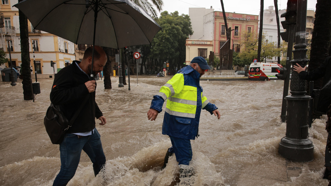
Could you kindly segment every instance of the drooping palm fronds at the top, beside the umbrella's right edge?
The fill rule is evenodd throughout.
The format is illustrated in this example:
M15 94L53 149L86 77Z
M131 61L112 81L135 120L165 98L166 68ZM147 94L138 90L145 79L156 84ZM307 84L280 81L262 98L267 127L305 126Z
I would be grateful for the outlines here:
M161 11L163 8L163 0L131 0L146 12L150 13L152 17L157 18L157 11ZM150 2L151 1L151 2ZM154 8L156 7L156 9Z

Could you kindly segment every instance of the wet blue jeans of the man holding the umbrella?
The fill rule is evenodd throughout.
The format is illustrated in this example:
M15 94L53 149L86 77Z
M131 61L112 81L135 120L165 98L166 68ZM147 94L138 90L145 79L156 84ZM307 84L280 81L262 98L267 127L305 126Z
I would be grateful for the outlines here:
M53 182L53 186L68 184L75 175L82 150L91 159L95 176L105 166L106 157L97 129L94 130L92 135L81 138L78 138L76 134L67 133L60 144L61 169Z

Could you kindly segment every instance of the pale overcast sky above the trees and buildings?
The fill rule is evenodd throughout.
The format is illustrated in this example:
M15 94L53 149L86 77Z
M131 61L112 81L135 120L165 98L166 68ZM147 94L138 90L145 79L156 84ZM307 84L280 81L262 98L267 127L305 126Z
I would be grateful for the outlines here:
M307 0L307 9L316 10L317 0ZM178 11L179 15L187 14L189 8L206 8L213 6L214 11L222 11L220 0L163 0L163 11L169 13ZM260 0L223 0L225 12L236 12L240 14L259 15ZM264 0L264 9L274 6L273 0ZM286 9L287 0L278 0L278 9Z

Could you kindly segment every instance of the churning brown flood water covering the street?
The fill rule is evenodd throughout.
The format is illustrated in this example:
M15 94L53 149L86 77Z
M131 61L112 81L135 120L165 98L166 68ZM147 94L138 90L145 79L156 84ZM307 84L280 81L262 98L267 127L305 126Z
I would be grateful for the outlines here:
M92 164L82 152L68 185L176 184L171 183L179 171L174 156L160 169L171 146L169 138L161 134L164 112L156 121L147 119L153 95L170 77L138 78L138 84L136 77L130 78L130 91L128 85L118 88L116 77L112 77L111 90L104 90L103 81L97 81L96 102L107 118L105 126L97 125L106 170L94 177ZM0 82L0 185L52 185L60 170L59 145L51 144L43 125L53 79L38 82L41 93L35 102L23 100L21 80L15 87ZM219 108L221 118L217 120L205 110L201 113L200 137L192 140L194 185L328 185L322 179L325 116L309 129L313 162L292 162L293 167L303 167L299 175L285 181L274 178L288 163L278 154L286 130L280 121L283 81L201 81L201 86ZM312 163L317 165L315 170L309 169Z

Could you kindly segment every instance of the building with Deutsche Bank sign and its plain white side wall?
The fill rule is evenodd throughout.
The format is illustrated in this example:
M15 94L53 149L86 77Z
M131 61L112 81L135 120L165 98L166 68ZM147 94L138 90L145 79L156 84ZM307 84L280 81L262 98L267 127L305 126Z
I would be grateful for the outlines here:
M205 15L203 15L205 14ZM210 45L212 45L212 50L216 57L220 57L220 48L227 41L225 22L223 18L223 13L220 11L213 11L211 9L205 8L189 8L189 16L192 22L192 29L194 31L193 35L189 37L186 41L186 62L190 61L192 58L190 56L199 56L200 50L191 48L192 41L200 41L201 43L208 43L205 45L207 48L207 53L209 56ZM197 17L200 16L200 19ZM227 27L231 28L231 40L230 49L235 52L240 52L242 47L240 46L241 36L244 32L258 32L258 18L257 15L248 14L237 14L237 13L225 13ZM203 21L202 20L203 17ZM202 31L201 31L202 30ZM194 46L194 45L193 45ZM190 48L188 48L190 47ZM208 58L207 56L207 58ZM189 57L189 58L188 58Z

